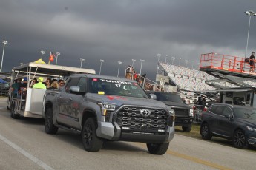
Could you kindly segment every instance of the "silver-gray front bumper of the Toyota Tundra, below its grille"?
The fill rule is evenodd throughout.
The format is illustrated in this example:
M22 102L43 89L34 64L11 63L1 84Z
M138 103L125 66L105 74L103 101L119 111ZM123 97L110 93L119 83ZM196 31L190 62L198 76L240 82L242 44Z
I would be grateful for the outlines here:
M168 143L174 138L174 127L168 126L165 132L137 132L126 130L117 123L98 122L97 136L108 140L122 140L142 143Z

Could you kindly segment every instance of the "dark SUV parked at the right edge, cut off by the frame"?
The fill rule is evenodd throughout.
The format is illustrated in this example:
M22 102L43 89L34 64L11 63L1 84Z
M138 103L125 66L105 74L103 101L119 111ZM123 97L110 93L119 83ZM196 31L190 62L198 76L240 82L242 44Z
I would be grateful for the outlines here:
M237 148L256 144L256 109L216 103L202 115L200 134L203 139L212 136L232 140Z

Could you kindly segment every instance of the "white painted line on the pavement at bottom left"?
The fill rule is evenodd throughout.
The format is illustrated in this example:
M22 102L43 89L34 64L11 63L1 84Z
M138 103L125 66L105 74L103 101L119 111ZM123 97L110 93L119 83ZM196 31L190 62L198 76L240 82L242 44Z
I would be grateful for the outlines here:
M15 149L16 151L18 151L21 154L23 154L28 159L32 160L37 165L41 166L43 169L54 170L50 166L47 166L46 163L42 162L38 158L34 157L32 154L26 152L24 149L22 149L21 147L17 146L15 143L11 142L10 140L7 140L7 138L3 137L2 135L0 135L0 139L3 140L4 143L7 143L9 146L13 147L13 149Z

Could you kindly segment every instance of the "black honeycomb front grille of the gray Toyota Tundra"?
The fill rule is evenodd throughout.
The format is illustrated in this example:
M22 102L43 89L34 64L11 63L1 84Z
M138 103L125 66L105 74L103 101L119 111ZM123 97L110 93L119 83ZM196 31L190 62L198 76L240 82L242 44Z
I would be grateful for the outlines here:
M148 109L151 114L141 114L142 109ZM168 126L168 114L164 109L124 106L117 112L116 123L122 129L157 131Z

